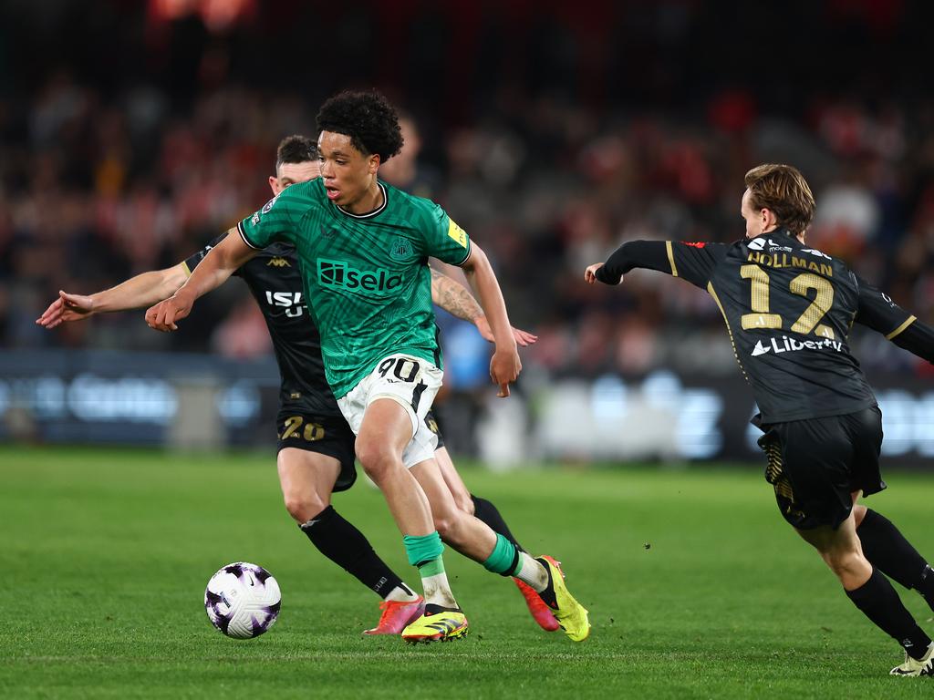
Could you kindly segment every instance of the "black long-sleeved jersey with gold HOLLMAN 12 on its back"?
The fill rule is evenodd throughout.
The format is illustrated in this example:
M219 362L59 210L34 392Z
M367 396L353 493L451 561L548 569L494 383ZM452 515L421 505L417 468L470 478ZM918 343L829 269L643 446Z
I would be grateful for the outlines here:
M862 323L895 340L915 324L913 315L841 260L784 230L731 245L636 243L628 252L627 245L616 251L598 277L613 282L633 267L647 267L709 292L753 387L762 423L855 413L876 405L850 353L850 329ZM928 343L928 331L922 344Z

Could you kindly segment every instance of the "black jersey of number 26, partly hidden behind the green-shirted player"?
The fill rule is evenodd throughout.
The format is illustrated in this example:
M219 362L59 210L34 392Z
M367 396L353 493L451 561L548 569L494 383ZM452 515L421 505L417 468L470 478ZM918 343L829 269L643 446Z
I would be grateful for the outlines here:
M224 235L185 260L189 273ZM270 245L234 274L247 283L253 298L260 304L272 336L282 378L280 408L322 418L341 417L331 387L324 378L321 339L304 302L302 275L294 247Z

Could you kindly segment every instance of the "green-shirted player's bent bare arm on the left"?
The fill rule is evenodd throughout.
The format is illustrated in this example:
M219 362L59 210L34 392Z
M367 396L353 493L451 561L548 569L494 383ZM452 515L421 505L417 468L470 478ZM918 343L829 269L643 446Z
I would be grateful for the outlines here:
M175 294L146 312L149 328L177 330L176 322L191 314L191 306L199 297L222 285L238 268L259 253L259 250L244 243L239 234L230 235L234 231L228 231L227 237L211 248Z

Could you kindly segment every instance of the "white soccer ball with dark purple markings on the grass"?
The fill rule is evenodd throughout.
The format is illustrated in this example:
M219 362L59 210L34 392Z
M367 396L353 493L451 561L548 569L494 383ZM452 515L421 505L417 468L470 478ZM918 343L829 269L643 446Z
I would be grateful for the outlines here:
M205 588L205 610L227 637L249 639L266 632L279 616L282 595L263 567L234 562L220 568Z

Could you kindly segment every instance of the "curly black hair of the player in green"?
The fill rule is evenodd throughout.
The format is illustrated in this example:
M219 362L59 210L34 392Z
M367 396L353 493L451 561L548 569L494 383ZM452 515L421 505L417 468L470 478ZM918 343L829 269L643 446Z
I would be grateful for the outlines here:
M399 115L382 94L346 90L334 95L318 111L318 133L343 133L364 155L386 162L403 149Z

